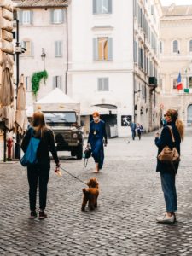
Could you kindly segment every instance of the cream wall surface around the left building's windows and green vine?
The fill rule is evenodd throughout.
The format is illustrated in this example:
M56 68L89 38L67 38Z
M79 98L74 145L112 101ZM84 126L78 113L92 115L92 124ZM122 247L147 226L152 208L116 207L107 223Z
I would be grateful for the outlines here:
M66 22L64 24L50 23L50 9L33 9L33 24L20 25L20 42L30 39L33 43L32 56L20 55L20 74L32 77L32 73L45 69L49 78L46 84L41 83L37 99L45 96L50 90L53 90L53 76L62 76L62 87L65 91L65 71L66 71ZM55 57L55 41L63 41L62 57ZM46 53L45 63L41 59L42 48ZM32 105L34 97L32 92L26 93L27 105Z

